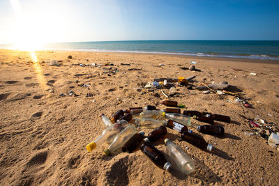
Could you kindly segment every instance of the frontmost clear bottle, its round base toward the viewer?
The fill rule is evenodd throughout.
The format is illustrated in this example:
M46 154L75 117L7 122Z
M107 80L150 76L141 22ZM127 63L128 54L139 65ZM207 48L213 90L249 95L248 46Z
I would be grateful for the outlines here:
M169 139L165 139L165 145L169 151L169 156L172 158L176 166L183 173L191 173L195 169L195 162L192 158L179 146L174 144Z

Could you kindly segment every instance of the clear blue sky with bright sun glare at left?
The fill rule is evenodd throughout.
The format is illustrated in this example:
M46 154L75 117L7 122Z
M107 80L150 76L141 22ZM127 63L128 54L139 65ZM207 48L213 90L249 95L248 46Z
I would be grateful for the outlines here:
M279 1L0 0L0 44L279 40Z

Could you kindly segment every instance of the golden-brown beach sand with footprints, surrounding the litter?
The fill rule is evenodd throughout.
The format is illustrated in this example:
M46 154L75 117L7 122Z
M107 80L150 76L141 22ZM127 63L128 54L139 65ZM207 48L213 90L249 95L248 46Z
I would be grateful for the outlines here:
M29 52L0 50L0 185L278 185L279 151L266 139L245 134L255 129L246 118L257 115L278 126L278 61L70 51L35 54L40 63L33 63ZM67 59L68 55L73 59ZM61 60L60 65L47 65L50 59ZM197 61L201 72L179 68L189 67L190 61ZM73 65L77 63L113 63L112 68L119 72L109 76L103 66ZM243 94L253 107L242 107L232 95L177 88L172 100L185 104L186 109L224 114L233 121L219 122L225 127L223 138L202 134L218 148L217 153L181 141L178 132L168 129L169 138L195 160L193 173L185 176L179 171L164 171L140 150L110 157L102 153L105 146L86 151L86 144L104 130L101 113L112 116L118 109L147 104L165 108L158 104L164 100L160 91L155 91L160 95L156 98L136 87L158 77L192 75L197 76L191 83L195 86L229 82L234 86L232 91ZM68 95L70 91L79 96ZM61 93L66 96L59 96ZM87 93L93 97L86 97ZM148 134L150 130L144 131ZM167 153L162 141L156 145Z

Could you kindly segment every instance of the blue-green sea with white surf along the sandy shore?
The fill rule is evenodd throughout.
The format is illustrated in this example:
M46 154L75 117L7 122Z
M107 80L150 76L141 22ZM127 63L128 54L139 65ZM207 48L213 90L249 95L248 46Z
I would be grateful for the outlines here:
M0 45L8 48L9 45ZM50 43L43 49L279 60L278 40L127 40Z

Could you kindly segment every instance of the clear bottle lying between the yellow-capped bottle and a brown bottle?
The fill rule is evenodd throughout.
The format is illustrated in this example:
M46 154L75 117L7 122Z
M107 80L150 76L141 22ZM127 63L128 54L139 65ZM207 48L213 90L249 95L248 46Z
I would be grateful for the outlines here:
M112 141L112 144L104 151L105 155L110 155L115 150L121 148L133 135L137 133L137 130L133 125L128 125L122 130Z

